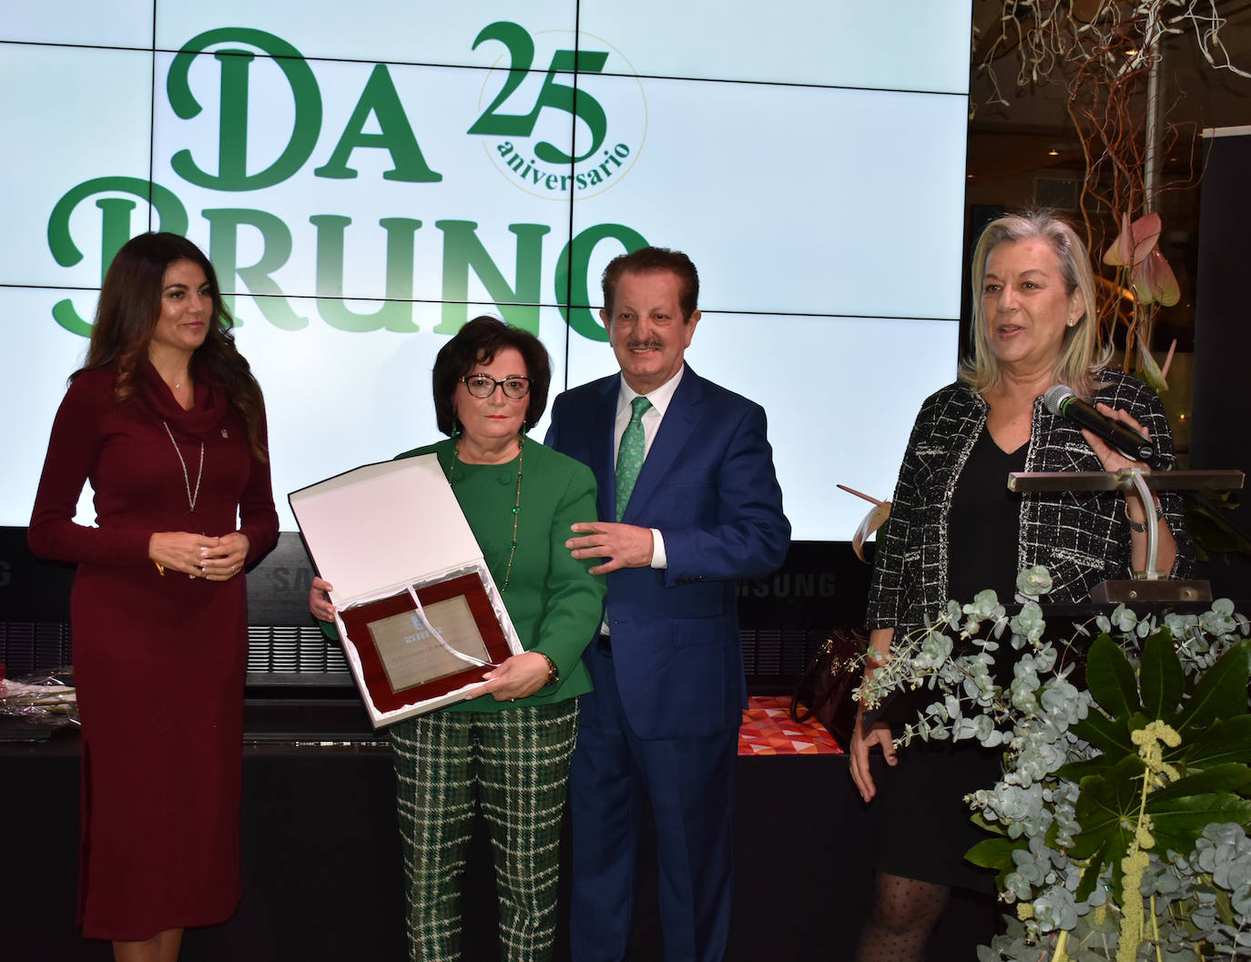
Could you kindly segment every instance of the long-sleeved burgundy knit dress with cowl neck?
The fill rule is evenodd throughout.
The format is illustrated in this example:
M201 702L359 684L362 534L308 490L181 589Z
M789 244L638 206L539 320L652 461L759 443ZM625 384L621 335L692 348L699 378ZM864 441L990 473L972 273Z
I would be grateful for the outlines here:
M198 380L183 410L155 369L144 363L141 374L120 404L111 370L73 382L29 532L36 554L78 563L79 923L113 941L221 922L241 892L244 578L161 575L149 537L238 529L249 564L278 538L269 465L251 457L225 395ZM96 528L73 522L86 480Z

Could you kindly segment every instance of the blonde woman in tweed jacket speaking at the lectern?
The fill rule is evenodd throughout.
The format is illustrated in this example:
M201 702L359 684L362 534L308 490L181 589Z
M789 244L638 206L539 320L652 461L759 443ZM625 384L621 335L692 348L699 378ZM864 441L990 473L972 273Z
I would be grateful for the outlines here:
M973 254L973 358L961 379L931 395L908 440L891 518L878 534L868 628L886 653L948 598L982 588L1011 598L1018 570L1045 564L1056 602L1085 600L1097 583L1146 563L1147 524L1158 525L1158 567L1191 567L1180 498L1143 505L1136 493L1013 495L1008 470L1097 472L1135 467L1100 438L1051 414L1042 394L1066 384L1105 414L1148 434L1160 468L1172 438L1155 392L1100 367L1090 256L1072 228L1047 214L1001 218ZM1138 465L1142 467L1142 465ZM887 769L876 784L868 753ZM851 744L866 802L881 794L882 831L873 911L858 958L921 959L951 886L988 888L962 856L978 841L963 797L998 776L998 756L977 746L914 744L896 756L879 722Z

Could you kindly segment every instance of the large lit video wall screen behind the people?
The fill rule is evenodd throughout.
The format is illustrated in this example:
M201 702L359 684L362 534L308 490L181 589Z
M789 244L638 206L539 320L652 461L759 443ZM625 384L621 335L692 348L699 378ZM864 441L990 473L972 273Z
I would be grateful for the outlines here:
M889 497L956 370L968 0L65 0L0 23L0 524L29 520L113 254L211 258L274 490L434 440L438 349L539 334L615 370L599 275L687 251L689 365L764 405L797 539ZM542 437L545 422L537 425ZM91 523L90 493L79 520Z

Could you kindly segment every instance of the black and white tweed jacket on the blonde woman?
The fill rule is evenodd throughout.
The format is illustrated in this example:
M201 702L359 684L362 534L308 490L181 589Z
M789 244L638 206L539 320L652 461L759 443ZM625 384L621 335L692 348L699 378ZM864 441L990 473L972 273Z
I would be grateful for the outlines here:
M1096 402L1127 410L1155 439L1165 468L1175 464L1172 433L1156 393L1136 378L1105 369ZM950 384L921 405L899 468L891 517L877 535L867 624L911 632L947 603L947 517L965 460L986 428L987 404L967 385ZM1072 423L1057 418L1038 398L1026 454L1027 472L1102 470L1095 452ZM1162 493L1168 528L1177 542L1172 577L1192 568L1181 498ZM1025 494L1017 568L1045 564L1052 602L1083 600L1108 578L1128 578L1130 525L1118 492ZM961 598L970 602L971 598ZM1011 599L1001 599L1011 600Z

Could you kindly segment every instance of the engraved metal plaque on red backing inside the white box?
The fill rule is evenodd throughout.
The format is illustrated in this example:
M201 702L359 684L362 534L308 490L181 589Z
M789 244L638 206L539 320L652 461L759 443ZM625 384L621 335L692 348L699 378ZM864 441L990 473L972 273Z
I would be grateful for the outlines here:
M492 664L512 654L477 573L414 592L442 642L425 628L407 590L340 612L369 697L382 712L480 682Z

